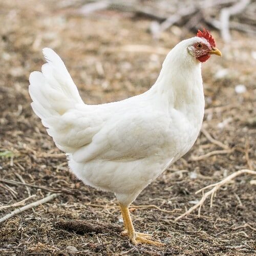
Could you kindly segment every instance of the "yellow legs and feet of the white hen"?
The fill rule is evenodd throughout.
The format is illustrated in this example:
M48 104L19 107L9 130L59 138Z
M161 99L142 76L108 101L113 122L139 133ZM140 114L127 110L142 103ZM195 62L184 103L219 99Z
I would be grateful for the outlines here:
M154 244L158 246L164 245L162 243L146 239L145 237L150 237L150 234L135 232L133 227L133 222L130 216L129 208L127 206L123 206L122 204L120 204L120 208L121 208L123 224L125 228L125 231L122 232L122 234L124 236L127 235L131 239L133 244L136 245L138 243L145 243L145 244Z

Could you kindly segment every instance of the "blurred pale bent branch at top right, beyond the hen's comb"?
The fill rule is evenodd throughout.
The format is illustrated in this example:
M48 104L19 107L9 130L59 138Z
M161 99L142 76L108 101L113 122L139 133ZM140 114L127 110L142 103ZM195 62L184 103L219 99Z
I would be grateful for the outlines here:
M221 24L221 36L224 41L229 42L231 40L229 32L229 18L231 15L242 12L245 7L250 3L250 0L241 0L231 7L223 8L220 13Z

